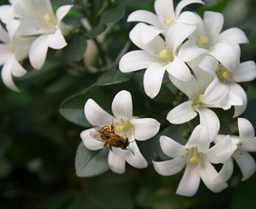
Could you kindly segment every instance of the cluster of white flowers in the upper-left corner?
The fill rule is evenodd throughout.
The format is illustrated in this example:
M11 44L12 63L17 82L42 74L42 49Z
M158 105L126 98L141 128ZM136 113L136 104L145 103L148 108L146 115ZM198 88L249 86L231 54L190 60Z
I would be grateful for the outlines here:
M10 0L10 5L0 6L0 19L6 27L5 30L0 25L0 65L7 87L19 91L12 76L26 74L20 61L29 57L32 67L39 70L49 48L62 49L67 45L64 35L69 26L62 19L71 7L61 6L55 15L50 0Z

